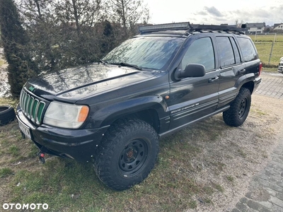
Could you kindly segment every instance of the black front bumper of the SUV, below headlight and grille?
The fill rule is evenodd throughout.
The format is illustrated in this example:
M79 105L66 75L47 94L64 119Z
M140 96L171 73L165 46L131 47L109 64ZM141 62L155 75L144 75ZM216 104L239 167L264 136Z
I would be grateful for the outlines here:
M42 153L89 162L93 158L103 135L109 126L99 129L62 129L42 124L35 126L17 110L18 122L30 133L30 139ZM22 125L22 129L23 129ZM27 132L25 132L27 134Z

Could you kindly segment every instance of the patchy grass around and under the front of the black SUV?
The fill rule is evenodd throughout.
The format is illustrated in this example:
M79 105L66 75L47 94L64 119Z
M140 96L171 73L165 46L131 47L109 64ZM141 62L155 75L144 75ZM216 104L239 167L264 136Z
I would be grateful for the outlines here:
M0 98L0 105L16 105L16 100ZM1 126L0 187L5 194L0 194L0 206L8 201L48 204L49 211L183 211L197 207L195 196L203 204L213 204L209 195L224 189L220 184L195 182L190 172L200 167L192 167L190 161L202 152L198 141L216 141L221 129L229 128L221 117L217 119L220 125L209 119L163 139L156 168L144 182L124 192L105 187L91 164L47 155L42 165L37 148L22 139L16 121ZM222 168L215 164L215 172Z

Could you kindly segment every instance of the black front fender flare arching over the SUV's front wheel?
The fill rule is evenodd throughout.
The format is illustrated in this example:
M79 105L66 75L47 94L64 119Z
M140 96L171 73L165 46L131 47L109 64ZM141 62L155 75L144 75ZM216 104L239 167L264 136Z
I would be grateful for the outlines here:
M117 102L94 112L91 117L93 117L96 127L102 127L112 124L112 122L120 117L125 117L128 114L148 109L155 110L159 119L169 117L166 102L158 95L150 95Z

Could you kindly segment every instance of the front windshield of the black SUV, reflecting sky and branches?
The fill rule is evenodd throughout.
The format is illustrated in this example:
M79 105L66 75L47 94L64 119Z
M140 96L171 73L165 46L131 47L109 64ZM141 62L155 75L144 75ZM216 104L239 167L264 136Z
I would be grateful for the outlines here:
M184 41L181 37L135 37L113 49L103 61L165 70Z

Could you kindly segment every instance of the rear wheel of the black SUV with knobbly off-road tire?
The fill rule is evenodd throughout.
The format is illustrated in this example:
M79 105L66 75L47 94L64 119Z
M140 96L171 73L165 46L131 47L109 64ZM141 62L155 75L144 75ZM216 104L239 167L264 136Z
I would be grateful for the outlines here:
M229 110L223 112L224 122L229 126L241 126L250 112L250 102L250 90L241 88Z

